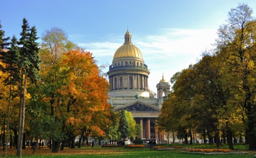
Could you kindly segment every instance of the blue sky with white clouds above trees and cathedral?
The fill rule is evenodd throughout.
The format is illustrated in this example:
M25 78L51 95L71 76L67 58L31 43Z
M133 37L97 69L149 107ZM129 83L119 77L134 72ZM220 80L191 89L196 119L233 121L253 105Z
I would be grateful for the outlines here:
M151 72L149 87L157 92L162 74L169 81L214 48L219 26L238 3L256 11L256 0L3 0L0 21L6 37L19 38L23 18L36 26L38 37L61 28L99 66L112 63L128 27Z

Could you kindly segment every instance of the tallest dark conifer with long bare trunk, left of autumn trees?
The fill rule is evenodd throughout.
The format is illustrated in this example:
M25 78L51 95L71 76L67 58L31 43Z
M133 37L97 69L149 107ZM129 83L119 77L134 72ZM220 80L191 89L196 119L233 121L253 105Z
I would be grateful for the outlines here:
M25 97L26 97L26 80L30 79L31 83L36 83L38 81L39 75L39 55L38 55L38 43L36 40L36 29L33 26L29 29L29 24L26 18L23 18L23 30L20 33L21 38L19 40L20 48L20 110L19 110L19 137L18 137L18 157L22 157L22 146L23 146L23 130L25 121ZM30 32L29 32L30 31Z

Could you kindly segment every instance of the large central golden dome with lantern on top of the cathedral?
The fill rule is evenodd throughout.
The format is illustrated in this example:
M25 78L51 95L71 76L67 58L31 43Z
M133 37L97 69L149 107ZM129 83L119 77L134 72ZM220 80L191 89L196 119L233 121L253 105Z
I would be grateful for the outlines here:
M142 53L135 45L132 44L132 35L127 30L124 35L124 44L120 46L113 59L122 58L122 57L137 57L143 59Z

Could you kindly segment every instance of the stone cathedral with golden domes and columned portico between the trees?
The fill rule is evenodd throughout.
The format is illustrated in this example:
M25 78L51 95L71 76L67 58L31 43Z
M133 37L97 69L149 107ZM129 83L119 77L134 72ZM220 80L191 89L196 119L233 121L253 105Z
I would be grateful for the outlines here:
M165 140L165 136L155 131L154 127L162 103L169 95L169 82L162 76L156 85L157 94L149 89L150 71L141 51L132 44L132 35L128 30L124 35L124 44L115 52L107 74L110 85L108 103L114 110L124 109L132 113L136 123L141 125L139 138L157 139L158 142Z

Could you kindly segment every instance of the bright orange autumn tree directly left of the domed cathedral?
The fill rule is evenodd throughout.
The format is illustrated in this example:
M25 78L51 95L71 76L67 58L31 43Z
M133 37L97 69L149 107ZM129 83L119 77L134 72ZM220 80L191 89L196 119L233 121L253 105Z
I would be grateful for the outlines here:
M65 95L67 121L83 122L82 131L86 138L104 136L110 110L106 102L108 83L99 76L98 66L90 52L77 49L66 53L65 57L63 63L68 74L68 84L62 86L60 93ZM68 122L75 125L75 121Z

